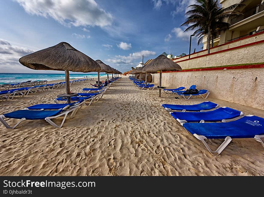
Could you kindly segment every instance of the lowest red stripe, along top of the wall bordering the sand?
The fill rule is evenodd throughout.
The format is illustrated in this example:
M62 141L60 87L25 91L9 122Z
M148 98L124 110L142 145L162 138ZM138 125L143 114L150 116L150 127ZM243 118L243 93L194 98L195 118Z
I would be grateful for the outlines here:
M264 68L264 64L226 66L226 67L214 67L214 68L196 68L196 69L186 69L186 70L182 70L182 71L162 71L162 73L205 71L205 70L223 70L223 69L231 70L231 69L246 69L246 68Z

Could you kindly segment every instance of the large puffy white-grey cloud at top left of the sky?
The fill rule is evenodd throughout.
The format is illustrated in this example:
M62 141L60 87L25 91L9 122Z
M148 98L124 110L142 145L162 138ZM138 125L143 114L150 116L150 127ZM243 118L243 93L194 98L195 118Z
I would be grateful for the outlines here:
M111 25L113 16L94 0L16 0L27 13L52 17L67 26Z

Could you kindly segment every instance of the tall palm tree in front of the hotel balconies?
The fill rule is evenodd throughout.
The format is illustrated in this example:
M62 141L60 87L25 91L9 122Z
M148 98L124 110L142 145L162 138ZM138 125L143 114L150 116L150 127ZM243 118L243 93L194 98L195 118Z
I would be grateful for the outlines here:
M218 0L196 0L197 4L190 5L191 10L187 11L186 21L181 25L190 25L184 32L195 30L194 34L199 37L198 45L203 36L207 35L207 48L210 53L210 40L215 37L217 32L229 29L229 23L224 22L232 16L241 14L234 11L235 8L244 6L243 4L233 4L229 7L222 8Z

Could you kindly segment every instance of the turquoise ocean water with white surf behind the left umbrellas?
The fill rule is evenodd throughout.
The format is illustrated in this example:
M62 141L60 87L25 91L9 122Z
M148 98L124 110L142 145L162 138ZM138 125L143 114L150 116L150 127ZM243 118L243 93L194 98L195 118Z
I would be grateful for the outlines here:
M70 80L83 77L97 78L97 74L71 74ZM100 76L107 76L107 74L100 73ZM42 80L59 80L65 79L65 74L44 74L44 73L0 73L0 84L19 83L25 81L42 81Z

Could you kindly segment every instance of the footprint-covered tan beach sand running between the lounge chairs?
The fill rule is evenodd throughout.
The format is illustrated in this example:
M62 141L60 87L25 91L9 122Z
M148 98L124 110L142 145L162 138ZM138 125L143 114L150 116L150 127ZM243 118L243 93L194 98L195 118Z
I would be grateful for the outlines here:
M79 92L86 84L73 85ZM36 103L52 103L64 88L1 102L1 114ZM264 117L263 110L208 100ZM188 134L162 103L184 101L158 91L139 90L125 76L103 99L85 106L63 127L25 121L17 129L0 126L1 175L264 175L264 149L253 139L233 139L212 156ZM58 120L59 121L59 120ZM221 140L210 140L216 147Z

